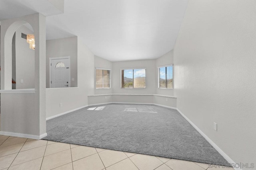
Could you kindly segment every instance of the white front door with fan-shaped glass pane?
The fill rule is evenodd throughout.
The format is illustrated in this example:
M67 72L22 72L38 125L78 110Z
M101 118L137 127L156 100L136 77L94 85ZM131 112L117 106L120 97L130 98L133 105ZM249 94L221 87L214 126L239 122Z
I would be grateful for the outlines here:
M50 88L70 87L70 58L51 58Z

